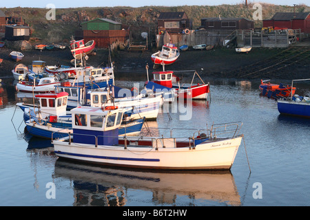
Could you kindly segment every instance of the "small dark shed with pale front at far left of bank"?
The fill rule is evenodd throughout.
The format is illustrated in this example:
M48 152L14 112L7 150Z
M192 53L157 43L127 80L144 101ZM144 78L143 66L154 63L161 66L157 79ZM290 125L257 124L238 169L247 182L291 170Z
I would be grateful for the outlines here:
M28 41L30 39L30 27L23 25L6 25L5 37L8 41Z

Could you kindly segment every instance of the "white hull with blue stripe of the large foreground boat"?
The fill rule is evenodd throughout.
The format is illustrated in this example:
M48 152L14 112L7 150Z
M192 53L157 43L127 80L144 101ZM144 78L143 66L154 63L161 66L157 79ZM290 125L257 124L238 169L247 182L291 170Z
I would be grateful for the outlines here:
M145 137L144 137L145 139ZM158 139L160 140L160 138ZM164 170L229 170L242 137L207 142L189 147L90 146L54 140L59 157L107 166ZM188 142L188 139L187 139Z

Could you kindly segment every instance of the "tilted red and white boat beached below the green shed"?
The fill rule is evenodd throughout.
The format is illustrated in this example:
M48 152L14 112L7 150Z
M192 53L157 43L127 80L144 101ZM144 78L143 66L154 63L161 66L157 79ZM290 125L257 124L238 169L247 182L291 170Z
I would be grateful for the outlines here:
M95 47L96 43L94 40L88 41L84 44L84 39L80 41L70 41L70 49L74 58L81 59L81 57L90 54Z

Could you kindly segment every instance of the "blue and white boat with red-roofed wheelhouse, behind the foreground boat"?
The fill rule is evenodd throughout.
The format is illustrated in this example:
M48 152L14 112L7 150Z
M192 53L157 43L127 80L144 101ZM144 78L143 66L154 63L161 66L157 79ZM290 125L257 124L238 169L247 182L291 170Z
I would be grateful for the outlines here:
M64 137L72 133L72 115L66 111L68 94L39 94L39 106L17 103L23 110L23 119L28 133L37 137L54 138ZM124 111L130 111L131 108ZM136 135L140 133L145 118L136 120L122 119L119 135Z

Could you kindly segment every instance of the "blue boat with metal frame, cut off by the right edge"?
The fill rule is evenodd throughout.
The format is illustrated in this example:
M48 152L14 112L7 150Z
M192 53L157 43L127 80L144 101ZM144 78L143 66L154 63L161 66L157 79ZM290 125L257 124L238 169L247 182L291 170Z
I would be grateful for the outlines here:
M300 80L292 80L293 81L303 81L310 79L300 79ZM283 115L294 115L305 118L310 118L310 98L304 96L298 96L297 94L291 96L287 100L277 100L278 102L278 111Z

